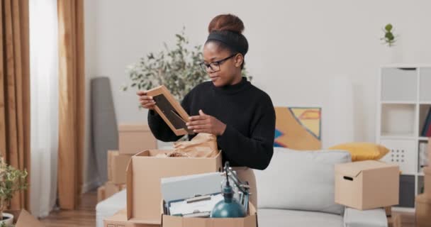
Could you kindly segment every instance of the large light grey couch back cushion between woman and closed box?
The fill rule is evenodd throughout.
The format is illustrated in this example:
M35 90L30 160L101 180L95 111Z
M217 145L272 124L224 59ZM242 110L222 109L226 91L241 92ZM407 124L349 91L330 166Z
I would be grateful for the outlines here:
M342 150L274 148L267 169L254 170L258 208L342 214L343 206L334 199L334 165L350 160Z

